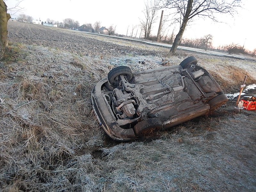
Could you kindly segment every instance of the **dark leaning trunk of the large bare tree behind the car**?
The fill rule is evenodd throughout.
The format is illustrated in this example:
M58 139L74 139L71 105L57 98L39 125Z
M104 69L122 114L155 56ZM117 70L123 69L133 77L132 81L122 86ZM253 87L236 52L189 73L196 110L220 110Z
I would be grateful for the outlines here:
M182 35L183 35L183 33L185 31L185 28L186 28L186 25L188 23L189 14L191 13L191 10L192 10L192 3L193 3L193 0L188 0L188 5L187 5L186 13L185 13L185 15L183 17L183 21L182 21L182 24L180 26L179 33L176 35L176 37L175 37L175 39L173 41L173 44L172 44L172 48L170 50L170 52L172 54L174 54L176 52L176 49L177 49L178 45L181 42Z

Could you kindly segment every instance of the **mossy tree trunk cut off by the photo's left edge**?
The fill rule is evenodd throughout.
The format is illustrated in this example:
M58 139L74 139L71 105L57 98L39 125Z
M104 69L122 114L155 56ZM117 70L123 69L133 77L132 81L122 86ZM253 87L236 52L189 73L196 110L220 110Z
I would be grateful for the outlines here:
M11 18L7 14L7 6L4 0L0 0L0 60L4 58L5 47L7 43L7 21Z

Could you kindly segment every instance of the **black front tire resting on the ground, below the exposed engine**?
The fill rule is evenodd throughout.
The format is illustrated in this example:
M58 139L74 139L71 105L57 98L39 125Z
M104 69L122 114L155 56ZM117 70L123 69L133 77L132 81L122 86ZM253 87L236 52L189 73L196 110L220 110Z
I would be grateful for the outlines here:
M143 120L143 121L137 123L133 127L133 131L134 131L135 135L138 136L142 132L153 129L153 128L156 128L156 130L159 130L162 128L162 122L157 117L149 118L149 119L146 119L146 120Z

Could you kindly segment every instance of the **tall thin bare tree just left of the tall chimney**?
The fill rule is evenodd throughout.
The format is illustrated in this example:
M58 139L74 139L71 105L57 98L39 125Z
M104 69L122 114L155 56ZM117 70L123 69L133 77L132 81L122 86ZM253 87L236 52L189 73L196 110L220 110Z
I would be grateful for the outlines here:
M158 0L148 0L145 2L145 10L143 11L144 19L140 21L142 30L144 31L144 39L148 39L151 34L152 24L157 20L157 10Z

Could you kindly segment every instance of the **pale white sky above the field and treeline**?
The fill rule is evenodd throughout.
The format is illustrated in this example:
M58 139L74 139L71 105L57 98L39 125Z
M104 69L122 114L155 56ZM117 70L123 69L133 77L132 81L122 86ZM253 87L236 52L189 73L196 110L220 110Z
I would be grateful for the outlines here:
M183 38L201 38L211 34L213 36L212 45L214 47L226 44L244 45L244 48L253 50L256 48L255 38L255 7L256 0L241 0L242 7L238 9L238 14L234 17L228 14L218 15L217 19L222 22L213 22L210 19L197 19L190 22L186 27ZM12 8L17 0L5 0L8 8ZM94 23L101 21L101 25L109 27L116 26L118 34L131 34L132 25L139 25L143 19L142 11L145 8L144 0L23 0L19 6L23 13L30 15L34 20L51 20L62 22L63 19L71 18L79 21L80 25L84 23ZM164 10L164 14L168 10ZM12 15L12 18L18 18L20 12ZM156 35L161 16L159 10L159 19L153 26L152 34ZM175 25L171 25L169 33L172 33ZM176 33L179 26L176 27ZM168 31L168 29L166 31ZM137 31L137 29L135 29ZM140 34L138 31L137 37Z

